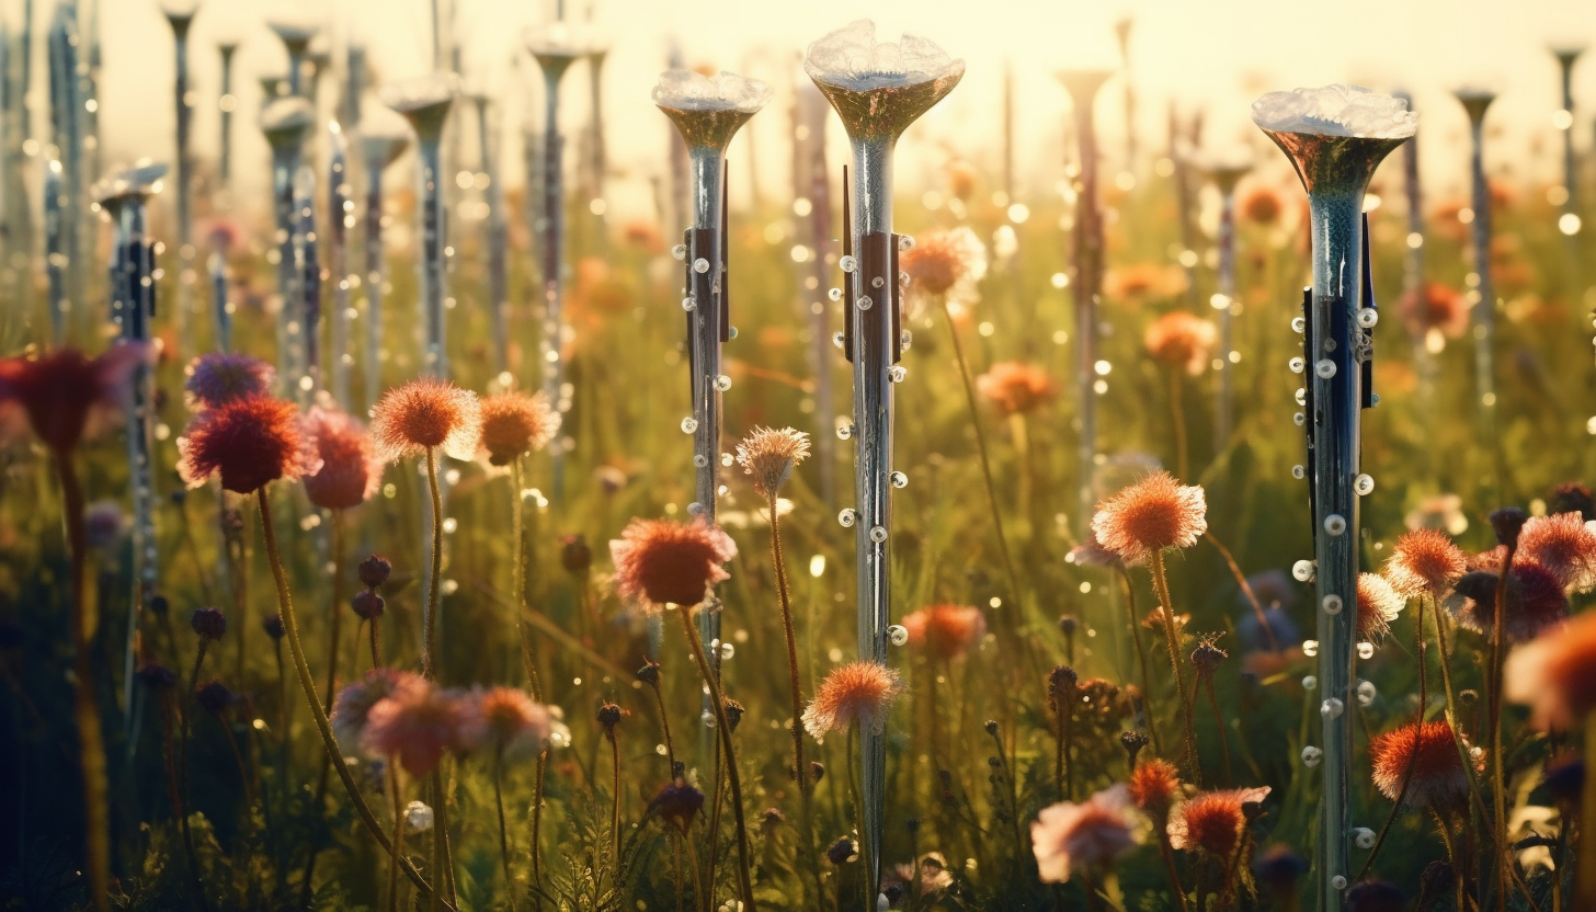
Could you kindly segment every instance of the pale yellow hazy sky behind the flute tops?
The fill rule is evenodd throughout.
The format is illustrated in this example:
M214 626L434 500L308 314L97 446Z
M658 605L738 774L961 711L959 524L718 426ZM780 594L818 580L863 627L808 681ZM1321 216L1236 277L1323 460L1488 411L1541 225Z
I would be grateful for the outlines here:
M80 0L83 3L85 0ZM102 129L110 158L152 155L171 158L171 35L156 0L94 0L102 10L105 73ZM541 80L533 94L509 61L525 26L546 21L549 0L453 0L466 50L466 72L485 78L504 101L506 152L514 152L522 112L541 105ZM35 0L48 21L49 0ZM10 26L21 0L0 0ZM1310 10L1334 14L1310 14ZM204 0L195 21L193 86L198 93L195 142L203 157L215 150L215 91L219 64L214 42L222 34L243 38L238 54L239 115L236 169L265 176L265 147L255 129L260 89L255 77L281 72L286 54L262 26L268 16L311 11L338 37L359 35L370 48L381 78L418 75L431 69L429 0ZM1449 89L1486 85L1500 93L1491 112L1494 128L1487 160L1518 171L1551 174L1561 137L1551 128L1559 107L1558 67L1551 43L1596 43L1596 3L1591 0L1341 0L1336 3L1280 3L1278 0L1101 2L1077 0L571 0L567 14L589 14L608 45L603 105L610 125L611 165L622 174L613 184L616 203L642 206L648 177L666 168L669 125L651 105L648 91L664 69L667 48L678 43L689 65L707 64L771 81L777 99L752 125L761 176L774 192L785 187L788 112L787 93L803 48L825 32L857 18L873 18L878 30L895 37L911 30L938 42L967 61L964 83L932 110L905 139L900 180L913 180L946 160L946 149L996 171L999 155L999 99L1004 69L1017 83L1017 158L1020 185L1036 192L1058 179L1061 120L1069 102L1052 73L1063 67L1117 65L1114 21L1130 14L1132 85L1138 94L1138 131L1144 149L1162 149L1167 105L1200 107L1207 136L1215 144L1253 142L1270 168L1285 160L1266 147L1248 121L1248 104L1261 91L1360 81L1371 88L1404 88L1420 112L1424 165L1443 188L1460 187L1465 161L1465 118ZM43 57L43 50L35 53ZM1100 96L1103 144L1122 149L1120 80ZM329 96L330 99L330 96ZM562 89L568 133L584 121L587 73L570 72ZM365 105L375 105L367 97ZM1596 113L1596 51L1575 67L1575 136L1591 145ZM330 109L329 109L330 113ZM835 131L833 131L835 133ZM737 139L734 166L745 165L749 141ZM469 145L466 149L471 149ZM1532 155L1534 153L1534 155ZM843 161L838 149L835 160ZM1278 160L1278 161L1277 161ZM509 158L516 161L516 158ZM519 166L508 174L519 184ZM736 203L736 201L734 201Z

